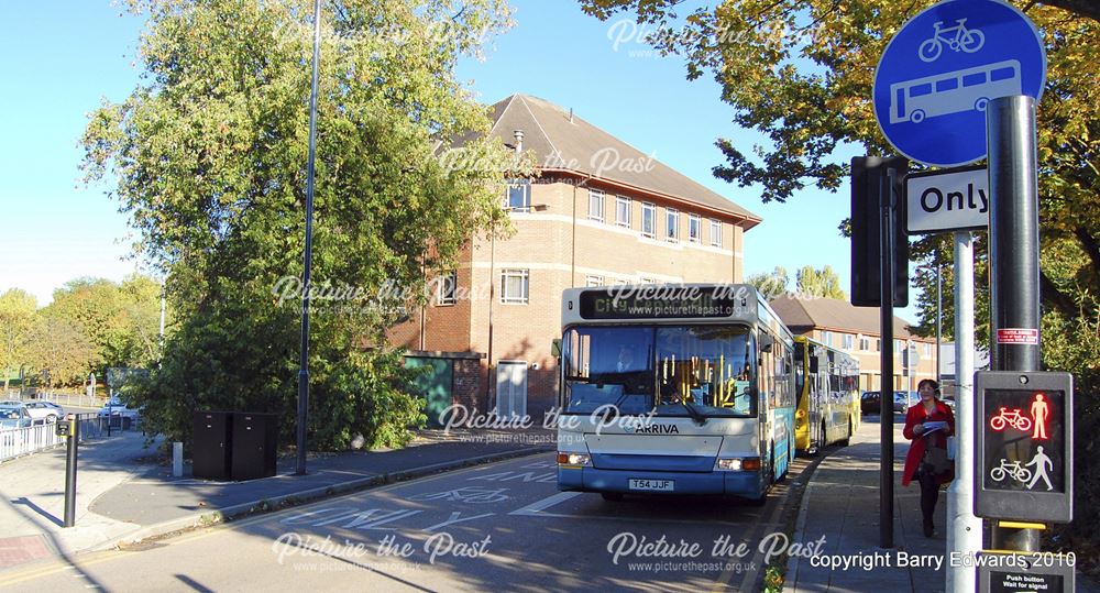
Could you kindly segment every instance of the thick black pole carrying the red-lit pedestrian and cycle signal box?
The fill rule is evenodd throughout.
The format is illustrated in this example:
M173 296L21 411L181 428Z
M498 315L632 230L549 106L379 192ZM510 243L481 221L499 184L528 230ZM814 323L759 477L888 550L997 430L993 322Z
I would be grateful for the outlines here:
M987 107L990 191L990 344L994 371L1038 371L1038 179L1035 100ZM1010 336L1012 336L1010 338ZM1034 339L1026 338L1034 336ZM1025 337L1021 339L1021 337ZM1041 529L992 526L994 549L1037 552Z

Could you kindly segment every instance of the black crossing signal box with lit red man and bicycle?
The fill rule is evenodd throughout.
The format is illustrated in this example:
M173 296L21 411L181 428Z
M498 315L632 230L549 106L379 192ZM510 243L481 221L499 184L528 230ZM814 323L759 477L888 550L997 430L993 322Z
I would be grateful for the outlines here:
M974 514L1069 523L1074 516L1074 376L975 373Z

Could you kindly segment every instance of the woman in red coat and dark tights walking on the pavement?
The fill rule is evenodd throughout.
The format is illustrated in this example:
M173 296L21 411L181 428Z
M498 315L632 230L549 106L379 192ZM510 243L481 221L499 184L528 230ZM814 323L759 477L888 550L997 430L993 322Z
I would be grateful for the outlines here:
M954 463L946 461L947 437L955 435L955 414L937 397L939 385L935 381L921 381L917 393L921 400L905 414L904 435L913 442L905 455L901 483L908 486L914 477L921 483L924 537L932 537L932 515L939 499L939 486L955 479Z

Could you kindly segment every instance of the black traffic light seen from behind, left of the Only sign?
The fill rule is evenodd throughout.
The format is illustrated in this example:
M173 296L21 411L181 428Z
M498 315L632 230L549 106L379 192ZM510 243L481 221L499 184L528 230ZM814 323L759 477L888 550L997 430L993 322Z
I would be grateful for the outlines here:
M851 304L880 307L881 293L881 196L893 173L894 307L909 305L909 237L905 234L905 174L909 160L857 156L851 160Z

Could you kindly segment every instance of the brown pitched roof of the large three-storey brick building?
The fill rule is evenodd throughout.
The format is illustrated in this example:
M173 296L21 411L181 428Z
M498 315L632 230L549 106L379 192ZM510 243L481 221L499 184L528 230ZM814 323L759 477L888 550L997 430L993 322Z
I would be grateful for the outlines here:
M490 133L513 145L515 131L521 130L524 152L534 151L542 171L592 175L596 179L702 205L741 219L738 223L745 229L761 221L759 216L550 101L513 95L490 110L494 122ZM612 163L640 164L645 171L607 166Z

